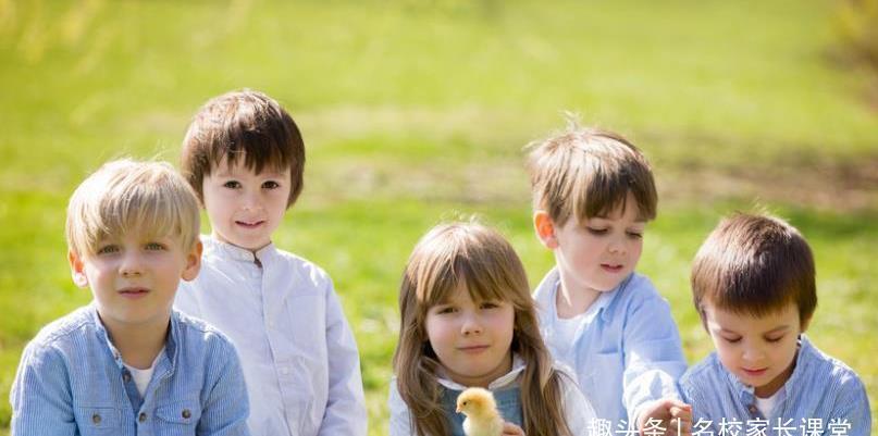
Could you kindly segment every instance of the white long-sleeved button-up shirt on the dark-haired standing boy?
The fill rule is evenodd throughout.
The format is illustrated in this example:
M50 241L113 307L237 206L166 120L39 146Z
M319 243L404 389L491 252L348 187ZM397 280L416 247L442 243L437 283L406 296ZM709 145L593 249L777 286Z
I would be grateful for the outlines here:
M253 253L201 240L201 271L174 306L234 342L253 436L364 436L357 345L326 273L273 245Z

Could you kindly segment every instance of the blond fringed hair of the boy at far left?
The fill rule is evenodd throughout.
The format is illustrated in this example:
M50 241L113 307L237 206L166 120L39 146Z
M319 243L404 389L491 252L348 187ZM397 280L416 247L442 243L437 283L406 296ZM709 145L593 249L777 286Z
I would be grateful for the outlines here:
M122 159L103 164L73 192L67 247L79 256L94 254L107 237L146 232L173 236L188 251L199 225L198 200L173 166Z

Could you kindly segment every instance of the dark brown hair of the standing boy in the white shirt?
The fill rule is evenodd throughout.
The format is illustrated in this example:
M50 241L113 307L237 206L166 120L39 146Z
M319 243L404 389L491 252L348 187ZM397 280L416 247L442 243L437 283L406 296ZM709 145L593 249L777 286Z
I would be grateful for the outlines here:
M274 99L243 89L209 100L195 114L183 140L181 172L203 200L205 176L220 165L244 157L248 170L289 169L287 208L302 187L305 144L293 117Z

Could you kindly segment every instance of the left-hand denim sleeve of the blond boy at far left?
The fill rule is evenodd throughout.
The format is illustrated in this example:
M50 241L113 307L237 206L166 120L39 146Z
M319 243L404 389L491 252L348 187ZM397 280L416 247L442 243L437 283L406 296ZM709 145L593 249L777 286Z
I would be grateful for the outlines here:
M10 391L12 436L77 435L70 376L54 349L30 342Z

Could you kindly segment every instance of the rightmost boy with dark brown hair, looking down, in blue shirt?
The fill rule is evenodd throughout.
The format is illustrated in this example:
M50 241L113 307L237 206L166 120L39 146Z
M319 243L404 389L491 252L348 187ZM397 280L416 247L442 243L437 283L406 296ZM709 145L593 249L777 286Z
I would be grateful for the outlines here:
M817 307L804 237L774 216L722 220L692 265L716 351L680 381L698 434L868 435L863 382L805 336Z

